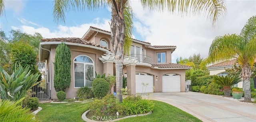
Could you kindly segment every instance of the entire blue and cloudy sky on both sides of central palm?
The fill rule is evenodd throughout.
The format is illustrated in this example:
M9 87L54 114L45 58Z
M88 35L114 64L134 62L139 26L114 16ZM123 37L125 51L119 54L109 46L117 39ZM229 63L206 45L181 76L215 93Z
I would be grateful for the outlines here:
M212 40L219 35L240 33L246 21L256 15L256 0L226 0L227 13L216 26L202 16L178 16L170 12L150 12L137 0L131 0L134 14L134 38L152 45L176 45L172 62L178 57L200 53L207 57ZM29 34L39 32L44 38L82 37L90 26L110 30L110 10L68 12L66 23L53 20L53 0L5 0L5 17L0 29L20 29Z

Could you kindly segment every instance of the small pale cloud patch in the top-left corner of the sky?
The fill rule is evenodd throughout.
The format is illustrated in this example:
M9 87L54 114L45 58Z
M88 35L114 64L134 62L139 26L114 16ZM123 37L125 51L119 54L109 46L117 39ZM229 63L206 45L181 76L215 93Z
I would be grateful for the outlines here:
M19 14L25 7L25 0L5 0L5 9L12 9L15 14Z

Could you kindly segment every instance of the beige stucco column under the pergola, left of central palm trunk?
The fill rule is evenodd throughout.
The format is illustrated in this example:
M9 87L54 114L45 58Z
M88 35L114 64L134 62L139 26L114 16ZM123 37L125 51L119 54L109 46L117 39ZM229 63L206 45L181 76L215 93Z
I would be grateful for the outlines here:
M103 73L106 74L106 77L108 75L113 75L114 74L114 67L113 67L114 61L105 61L103 62ZM111 93L114 92L114 86L110 88Z

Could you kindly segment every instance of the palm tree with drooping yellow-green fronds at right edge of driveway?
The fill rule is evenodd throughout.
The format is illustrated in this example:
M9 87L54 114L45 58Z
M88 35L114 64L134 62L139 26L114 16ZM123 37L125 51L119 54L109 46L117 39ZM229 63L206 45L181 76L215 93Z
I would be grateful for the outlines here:
M251 101L250 75L256 59L256 16L252 16L241 30L240 35L218 36L212 41L206 63L237 59L242 67L244 101Z

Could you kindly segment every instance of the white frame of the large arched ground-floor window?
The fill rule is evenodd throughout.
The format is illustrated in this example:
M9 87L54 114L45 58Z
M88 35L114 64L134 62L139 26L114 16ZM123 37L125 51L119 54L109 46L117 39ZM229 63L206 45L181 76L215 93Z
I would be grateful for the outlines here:
M93 77L95 77L95 63L94 63L94 61L92 60L92 63L85 63L85 62L79 62L79 61L75 61L75 59L77 58L77 57L79 57L79 56L86 56L86 57L88 57L89 59L91 59L92 60L92 58L91 57L89 57L88 55L78 55L78 56L76 56L75 58L74 58L74 60L73 60L73 75L74 75L74 88L81 88L81 87L75 87L75 63L80 63L80 64L83 64L84 65L84 87L85 87L85 65L86 64L88 64L88 65L93 65Z

